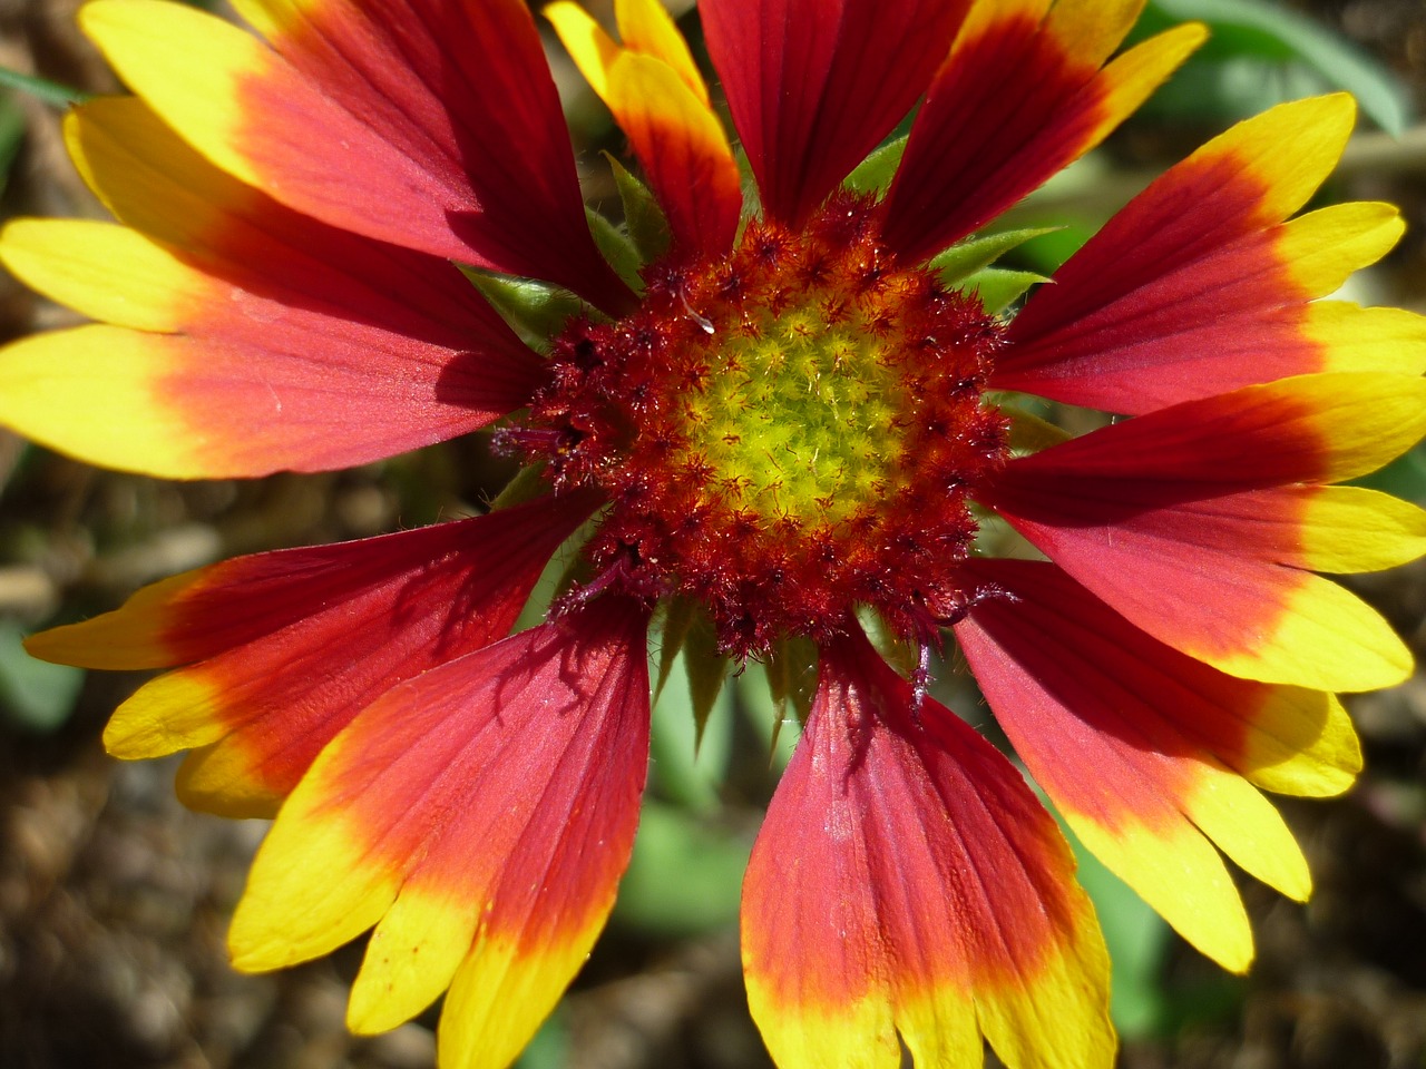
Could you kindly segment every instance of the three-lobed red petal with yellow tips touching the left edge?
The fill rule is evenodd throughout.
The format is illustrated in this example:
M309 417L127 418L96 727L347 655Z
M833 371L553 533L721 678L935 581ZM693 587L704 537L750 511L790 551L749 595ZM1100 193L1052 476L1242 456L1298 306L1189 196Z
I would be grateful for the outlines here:
M0 258L21 279L131 328L9 352L0 419L24 433L106 466L257 476L366 463L528 402L538 358L448 262L282 208L135 100L80 108L68 135L90 184L147 235L6 228Z

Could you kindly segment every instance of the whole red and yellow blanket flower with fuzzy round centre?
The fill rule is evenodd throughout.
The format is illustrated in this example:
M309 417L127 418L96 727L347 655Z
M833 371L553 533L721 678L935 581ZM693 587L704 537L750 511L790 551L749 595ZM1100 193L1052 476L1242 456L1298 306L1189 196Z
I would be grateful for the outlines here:
M180 479L358 465L499 422L530 470L488 515L240 557L31 639L170 668L116 713L110 750L190 750L188 804L275 814L240 968L374 928L351 1026L445 991L442 1063L509 1063L629 857L656 611L665 641L702 619L733 660L817 650L743 899L780 1065L894 1066L900 1042L974 1065L983 1036L1014 1069L1112 1060L1065 841L927 694L948 637L1079 838L1248 966L1219 851L1305 898L1259 788L1345 790L1360 758L1332 691L1410 671L1316 573L1426 549L1422 512L1336 485L1426 432L1426 329L1318 299L1392 247L1397 215L1289 220L1346 141L1348 98L1215 138L1007 316L964 279L1015 235L973 235L1102 140L1199 27L1111 58L1141 0L703 0L744 200L663 9L620 0L616 43L560 0L546 16L647 182L619 171L617 231L586 218L522 0L237 6L261 37L165 0L84 9L137 94L67 127L120 222L19 221L0 255L100 322L6 349L0 419ZM1067 438L1015 395L1127 418ZM987 552L992 516L1042 559ZM580 530L588 576L511 634Z

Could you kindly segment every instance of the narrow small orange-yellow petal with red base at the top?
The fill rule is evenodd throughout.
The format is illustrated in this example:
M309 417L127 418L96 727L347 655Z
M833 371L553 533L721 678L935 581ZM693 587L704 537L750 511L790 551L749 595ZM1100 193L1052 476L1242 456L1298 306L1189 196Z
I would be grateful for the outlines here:
M550 4L545 17L627 134L674 242L710 257L732 248L743 204L737 161L687 46L673 44L683 38L663 7L622 6L627 47L570 0Z

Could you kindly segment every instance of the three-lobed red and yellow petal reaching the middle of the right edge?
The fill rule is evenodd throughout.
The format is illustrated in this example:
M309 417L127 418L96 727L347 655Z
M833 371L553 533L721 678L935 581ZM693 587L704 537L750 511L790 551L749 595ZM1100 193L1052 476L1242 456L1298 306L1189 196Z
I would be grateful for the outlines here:
M1409 651L1306 569L1409 559L1419 517L1310 485L1369 472L1423 432L1417 378L1303 376L1021 458L988 500L1095 596L1192 657L1269 683L1370 690L1405 678ZM1352 520L1368 525L1360 552Z

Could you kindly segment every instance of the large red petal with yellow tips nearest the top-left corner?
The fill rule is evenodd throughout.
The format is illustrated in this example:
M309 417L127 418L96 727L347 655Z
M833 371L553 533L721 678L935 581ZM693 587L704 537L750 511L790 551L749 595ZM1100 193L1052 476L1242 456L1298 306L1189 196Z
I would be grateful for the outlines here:
M184 140L288 207L610 309L629 299L589 234L523 3L241 7L271 48L160 0L98 0L81 24Z

